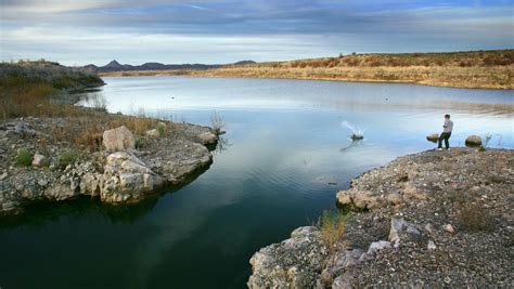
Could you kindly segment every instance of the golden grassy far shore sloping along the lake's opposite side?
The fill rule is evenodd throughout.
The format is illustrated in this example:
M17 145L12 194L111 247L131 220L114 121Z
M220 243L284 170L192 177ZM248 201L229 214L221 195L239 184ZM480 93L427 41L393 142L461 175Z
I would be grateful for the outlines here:
M355 54L215 69L133 70L102 73L103 77L192 76L279 78L358 82L417 83L466 89L514 89L514 50Z

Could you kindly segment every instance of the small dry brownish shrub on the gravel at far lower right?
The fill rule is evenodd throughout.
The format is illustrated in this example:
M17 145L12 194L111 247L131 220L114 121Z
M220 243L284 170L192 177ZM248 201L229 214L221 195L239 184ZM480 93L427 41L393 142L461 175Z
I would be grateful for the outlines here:
M459 225L468 232L494 231L494 219L477 202L463 206L457 218Z

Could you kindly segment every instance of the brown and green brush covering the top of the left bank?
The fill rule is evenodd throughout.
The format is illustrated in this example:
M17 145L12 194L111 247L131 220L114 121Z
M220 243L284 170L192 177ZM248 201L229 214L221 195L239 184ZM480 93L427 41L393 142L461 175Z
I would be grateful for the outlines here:
M68 105L78 100L65 91L102 83L97 75L56 63L1 63L0 117L4 120L17 117L52 118L47 131L50 139L44 139L44 146L66 143L90 152L101 148L102 132L108 129L126 126L137 137L145 135L151 129L157 129L162 135L174 129L171 122L149 118L142 109L137 117L105 114L106 101L99 94L89 100L92 109ZM142 141L140 144L143 144ZM73 160L74 154L68 153L64 154L60 163Z

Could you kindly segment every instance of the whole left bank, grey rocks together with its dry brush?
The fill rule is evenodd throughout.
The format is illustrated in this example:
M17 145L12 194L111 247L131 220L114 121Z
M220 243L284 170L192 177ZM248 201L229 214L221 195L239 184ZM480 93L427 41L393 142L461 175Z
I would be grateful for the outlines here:
M77 82L80 77L86 76ZM105 84L100 78L61 89L25 81L33 98L12 110L22 116L0 120L0 215L82 195L113 205L138 202L191 182L213 162L218 135L211 128L111 114L101 102L76 106L81 95L73 92L98 89ZM16 101L17 87L5 87Z

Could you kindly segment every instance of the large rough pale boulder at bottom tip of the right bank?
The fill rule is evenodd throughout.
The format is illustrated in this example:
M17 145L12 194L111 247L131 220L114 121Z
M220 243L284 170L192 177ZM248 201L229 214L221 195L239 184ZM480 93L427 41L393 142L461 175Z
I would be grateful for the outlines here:
M260 249L249 263L249 288L313 288L327 250L316 227L303 227L292 238Z

